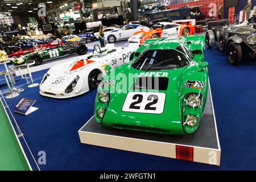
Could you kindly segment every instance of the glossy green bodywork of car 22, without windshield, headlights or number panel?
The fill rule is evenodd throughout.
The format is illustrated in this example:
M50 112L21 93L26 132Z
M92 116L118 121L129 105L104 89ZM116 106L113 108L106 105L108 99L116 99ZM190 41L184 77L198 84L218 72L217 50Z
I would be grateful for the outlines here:
M175 49L183 44L193 52L193 61L184 67L162 69L150 71L135 69L132 64L137 57L146 50L156 49ZM108 80L114 80L113 74L122 74L129 77L133 74L133 81L123 81L123 78L115 77L114 84L102 85L98 88L96 102L94 106L94 117L97 123L101 125L114 127L118 129L129 129L139 131L150 131L154 133L186 135L194 133L199 126L200 119L203 116L204 107L207 101L208 93L208 63L204 61L204 38L201 36L187 36L175 40L150 39L139 47L134 53L134 58L130 63L111 70L102 79L102 83ZM123 111L123 104L126 101L127 94L130 92L148 92L153 93L156 90L135 89L134 82L142 75L157 75L168 78L168 86L166 90L157 90L158 93L165 94L164 109L162 113L136 113ZM121 76L122 77L122 76ZM204 86L190 86L188 82L200 81ZM124 82L129 82L123 84ZM98 98L102 90L109 92L109 102L101 102ZM185 102L190 94L200 94L201 104L198 107L188 106ZM185 99L185 100L184 100ZM97 111L105 109L104 117L101 118ZM184 125L187 115L195 115L198 120L195 126Z

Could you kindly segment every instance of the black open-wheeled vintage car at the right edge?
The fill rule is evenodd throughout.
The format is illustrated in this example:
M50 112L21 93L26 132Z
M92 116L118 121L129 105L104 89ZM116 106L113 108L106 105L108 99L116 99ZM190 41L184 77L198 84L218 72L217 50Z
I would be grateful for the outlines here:
M205 43L208 49L217 46L228 55L229 63L238 65L242 57L256 57L256 16L248 22L218 28L209 28L205 35Z

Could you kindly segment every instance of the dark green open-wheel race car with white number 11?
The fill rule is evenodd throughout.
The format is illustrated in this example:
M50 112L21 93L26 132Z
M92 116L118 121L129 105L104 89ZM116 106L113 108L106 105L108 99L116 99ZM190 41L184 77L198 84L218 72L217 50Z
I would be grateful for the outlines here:
M77 53L78 55L84 55L88 51L88 48L84 43L80 44L60 44L56 48L38 48L34 52L23 55L13 60L13 65L18 66L25 64L28 60L34 60L35 65L42 64L45 60L52 60L58 57L64 57Z

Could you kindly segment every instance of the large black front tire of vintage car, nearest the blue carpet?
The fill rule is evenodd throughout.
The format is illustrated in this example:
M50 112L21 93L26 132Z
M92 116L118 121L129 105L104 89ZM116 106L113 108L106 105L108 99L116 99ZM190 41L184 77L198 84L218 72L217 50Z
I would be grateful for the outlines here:
M239 65L242 60L242 47L240 44L231 42L228 46L228 59L229 63Z

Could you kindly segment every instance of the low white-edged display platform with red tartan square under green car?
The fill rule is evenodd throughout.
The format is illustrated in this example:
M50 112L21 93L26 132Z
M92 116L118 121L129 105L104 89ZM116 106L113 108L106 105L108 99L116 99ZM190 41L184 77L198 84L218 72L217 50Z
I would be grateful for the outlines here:
M199 129L192 135L112 129L99 125L94 117L78 133L85 144L220 166L221 148L210 89Z

